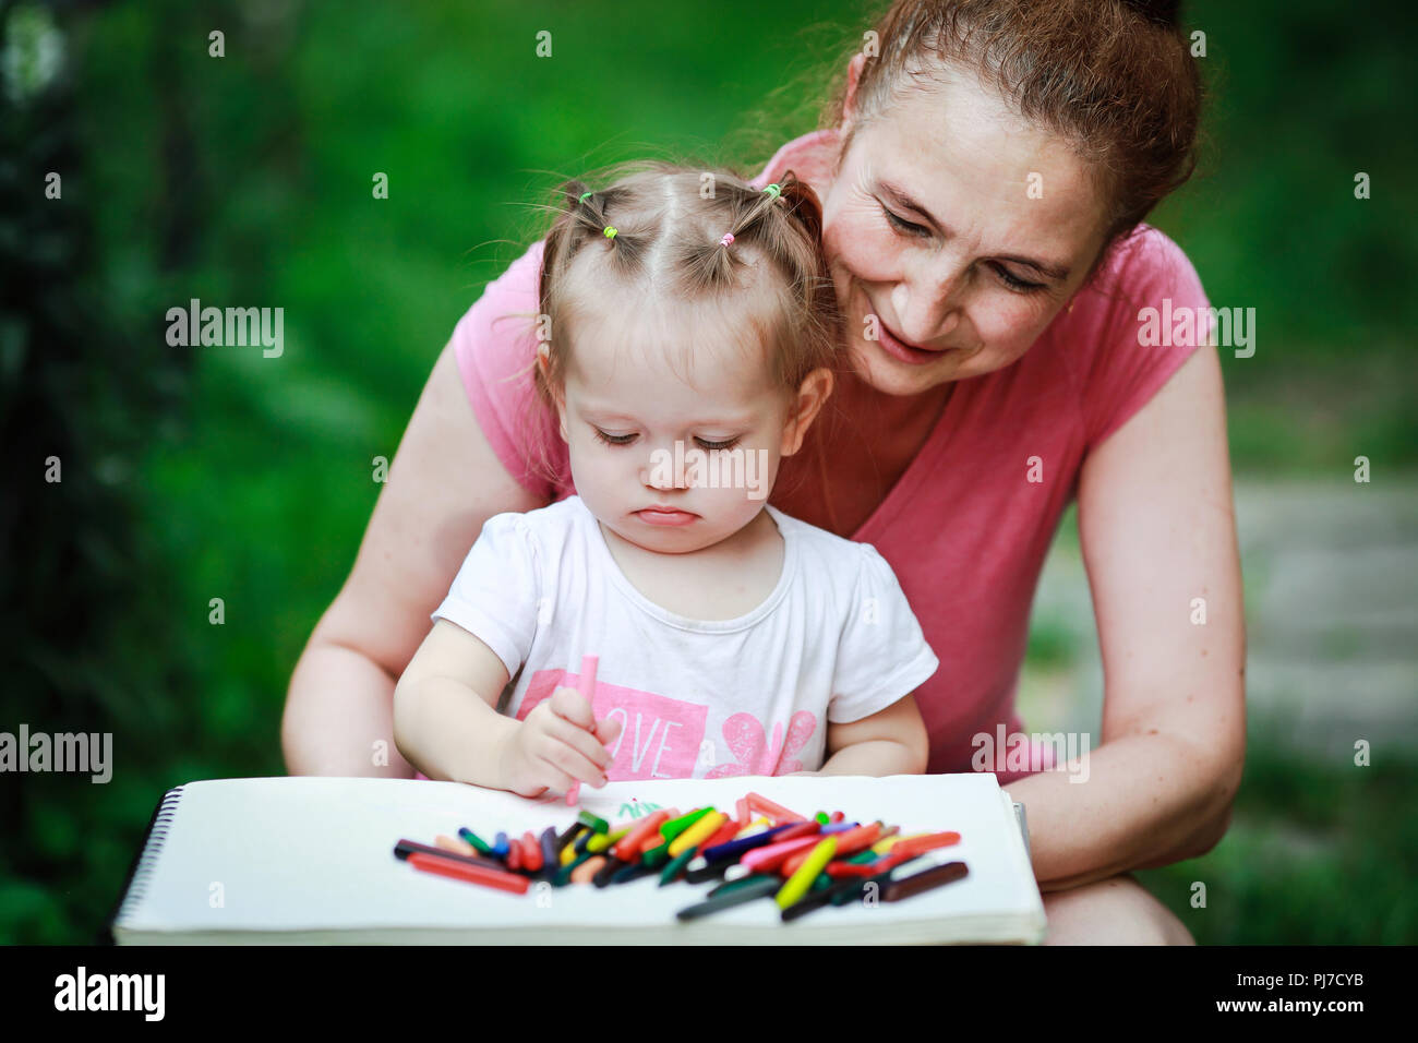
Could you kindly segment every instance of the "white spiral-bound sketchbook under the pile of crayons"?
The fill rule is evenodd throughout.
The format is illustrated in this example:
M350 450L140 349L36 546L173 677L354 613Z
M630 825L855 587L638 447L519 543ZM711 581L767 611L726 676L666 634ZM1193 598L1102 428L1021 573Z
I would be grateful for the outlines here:
M482 837L562 830L584 809L611 827L657 809L706 805L732 815L756 792L804 816L954 830L968 874L903 901L824 907L781 922L771 898L681 922L712 883L604 888L535 885L526 894L420 873L400 839L431 844L467 826ZM581 788L576 807L458 782L261 778L169 790L109 922L142 944L1037 944L1044 903L1022 809L994 775L665 779Z

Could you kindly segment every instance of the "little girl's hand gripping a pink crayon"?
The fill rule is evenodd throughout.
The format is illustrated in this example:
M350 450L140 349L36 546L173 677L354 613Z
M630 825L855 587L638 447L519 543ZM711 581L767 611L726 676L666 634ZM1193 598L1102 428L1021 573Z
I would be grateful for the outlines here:
M611 755L607 742L621 734L621 721L596 719L591 704L576 688L560 687L526 715L502 748L502 778L519 796L569 790L574 783L604 786Z

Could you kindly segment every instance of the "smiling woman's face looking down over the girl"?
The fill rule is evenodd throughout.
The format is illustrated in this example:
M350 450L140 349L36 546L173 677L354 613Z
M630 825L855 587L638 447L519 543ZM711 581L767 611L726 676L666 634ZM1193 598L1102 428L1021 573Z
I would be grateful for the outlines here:
M822 210L854 369L888 394L1018 359L1102 245L1083 163L963 72L858 126Z

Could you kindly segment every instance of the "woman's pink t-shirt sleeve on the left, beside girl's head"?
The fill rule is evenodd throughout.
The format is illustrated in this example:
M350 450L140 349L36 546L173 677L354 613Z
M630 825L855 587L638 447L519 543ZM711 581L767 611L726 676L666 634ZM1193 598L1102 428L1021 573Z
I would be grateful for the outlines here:
M452 349L492 451L523 488L550 501L557 495L553 475L569 475L570 460L533 383L543 245L533 243L488 284L454 328Z

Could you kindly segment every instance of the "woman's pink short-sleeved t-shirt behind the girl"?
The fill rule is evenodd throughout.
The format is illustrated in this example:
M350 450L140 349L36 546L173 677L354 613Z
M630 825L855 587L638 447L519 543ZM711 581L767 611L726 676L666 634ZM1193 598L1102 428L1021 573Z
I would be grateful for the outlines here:
M754 184L780 176L798 149L830 133L784 145ZM542 247L535 243L488 285L454 329L452 346L493 451L552 502L576 490L566 443L530 376ZM1022 358L953 389L916 458L851 534L895 569L940 658L916 691L930 731L927 771L970 771L976 735L993 741L1000 724L1010 735L1022 731L1014 695L1029 605L1083 457L1147 403L1201 339L1140 346L1139 311L1166 309L1164 301L1171 315L1207 314L1185 254L1143 226ZM1171 329L1166 311L1161 318ZM1020 775L997 773L1001 782Z

